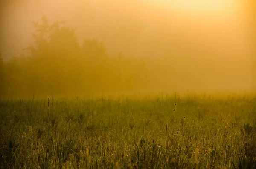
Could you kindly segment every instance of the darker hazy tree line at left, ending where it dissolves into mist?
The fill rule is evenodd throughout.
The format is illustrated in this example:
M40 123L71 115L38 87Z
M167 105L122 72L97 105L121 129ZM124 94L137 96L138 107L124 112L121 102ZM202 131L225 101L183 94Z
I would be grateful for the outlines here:
M46 17L33 22L34 43L24 48L26 56L7 63L0 60L2 96L84 94L154 85L145 59L121 53L110 57L97 40L86 39L79 46L74 29L64 23L50 25Z

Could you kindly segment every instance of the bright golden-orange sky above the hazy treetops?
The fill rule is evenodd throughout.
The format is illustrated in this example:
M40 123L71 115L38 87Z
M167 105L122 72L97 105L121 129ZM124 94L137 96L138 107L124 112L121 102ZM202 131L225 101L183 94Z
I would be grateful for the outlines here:
M80 44L85 38L97 39L111 55L156 57L169 54L170 49L177 54L184 48L200 52L202 45L237 57L249 52L239 0L1 2L0 51L5 60L19 56L23 47L33 43L32 21L40 21L42 15L50 23L67 20Z

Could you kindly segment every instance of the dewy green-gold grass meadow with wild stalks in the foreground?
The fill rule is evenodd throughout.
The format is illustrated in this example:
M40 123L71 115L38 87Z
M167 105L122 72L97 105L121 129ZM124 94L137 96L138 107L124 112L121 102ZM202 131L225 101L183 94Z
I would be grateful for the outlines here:
M256 168L254 94L20 98L0 112L0 168Z

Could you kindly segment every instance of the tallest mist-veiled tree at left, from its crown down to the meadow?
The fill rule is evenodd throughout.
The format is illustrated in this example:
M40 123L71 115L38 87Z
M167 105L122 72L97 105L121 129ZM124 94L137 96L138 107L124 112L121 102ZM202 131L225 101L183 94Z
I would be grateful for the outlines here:
M76 80L77 75L74 76L71 69L76 68L73 58L79 57L80 46L75 30L64 26L64 23L56 21L49 24L45 16L41 18L41 23L33 22L34 43L24 48L30 57L24 69L30 70L25 76L26 83L34 91L61 93Z

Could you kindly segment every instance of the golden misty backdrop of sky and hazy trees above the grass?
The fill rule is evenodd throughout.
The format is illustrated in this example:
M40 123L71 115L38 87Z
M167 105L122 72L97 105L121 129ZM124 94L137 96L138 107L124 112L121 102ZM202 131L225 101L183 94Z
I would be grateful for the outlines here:
M1 94L255 90L253 3L3 0Z

